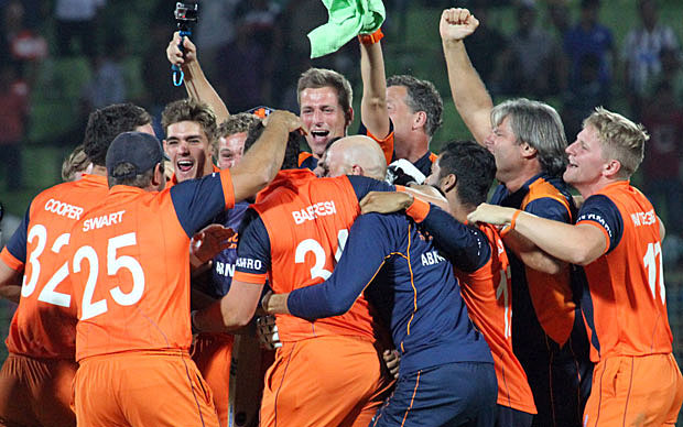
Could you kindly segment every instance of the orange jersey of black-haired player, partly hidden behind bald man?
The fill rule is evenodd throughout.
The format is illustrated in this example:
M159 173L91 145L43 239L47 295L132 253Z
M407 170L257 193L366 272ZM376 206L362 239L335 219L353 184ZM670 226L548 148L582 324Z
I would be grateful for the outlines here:
M491 349L498 379L498 404L535 414L527 374L512 352L512 285L510 263L498 230L480 225L491 256L480 269L465 273L455 269L469 317Z

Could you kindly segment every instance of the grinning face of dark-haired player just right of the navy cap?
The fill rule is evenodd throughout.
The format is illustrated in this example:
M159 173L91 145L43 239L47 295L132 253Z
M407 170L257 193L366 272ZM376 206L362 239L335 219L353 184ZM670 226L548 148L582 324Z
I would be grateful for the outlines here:
M175 169L178 183L200 178L210 166L210 147L208 136L202 125L194 121L181 121L166 129L164 150Z

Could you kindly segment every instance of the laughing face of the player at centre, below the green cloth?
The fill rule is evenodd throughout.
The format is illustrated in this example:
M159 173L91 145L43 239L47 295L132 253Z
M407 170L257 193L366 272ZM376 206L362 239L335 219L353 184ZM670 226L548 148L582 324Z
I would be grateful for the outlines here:
M306 141L317 157L333 138L346 135L348 125L337 91L329 86L301 91L301 120L308 129Z

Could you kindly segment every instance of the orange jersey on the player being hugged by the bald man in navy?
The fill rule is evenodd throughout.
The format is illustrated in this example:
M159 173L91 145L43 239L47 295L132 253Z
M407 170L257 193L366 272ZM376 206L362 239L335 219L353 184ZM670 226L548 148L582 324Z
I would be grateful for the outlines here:
M270 252L262 260L254 259L246 251L250 243L241 239L234 280L262 284L268 275L275 293L322 283L342 256L348 229L360 212L358 197L346 176L316 178L306 169L280 172L252 206L264 227L262 240L268 241ZM361 295L343 316L307 321L278 315L277 324L282 341L330 335L373 338L370 309Z

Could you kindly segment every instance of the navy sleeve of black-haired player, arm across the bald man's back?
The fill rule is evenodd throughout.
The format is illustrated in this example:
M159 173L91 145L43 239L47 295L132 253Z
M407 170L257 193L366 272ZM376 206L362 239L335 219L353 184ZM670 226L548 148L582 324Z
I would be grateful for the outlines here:
M491 247L481 230L463 225L437 206L431 205L420 227L434 238L434 244L460 271L475 272L491 258Z

